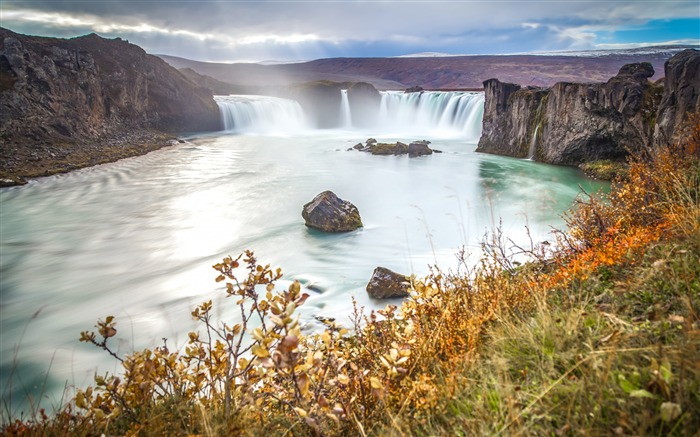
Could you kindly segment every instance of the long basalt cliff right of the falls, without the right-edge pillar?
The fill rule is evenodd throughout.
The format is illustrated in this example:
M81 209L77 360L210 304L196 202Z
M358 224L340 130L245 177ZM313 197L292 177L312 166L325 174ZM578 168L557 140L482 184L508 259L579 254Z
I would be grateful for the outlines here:
M648 114L658 104L650 98L658 96L648 80L653 74L651 64L640 63L599 84L541 89L488 80L477 151L563 165L622 159L651 135Z

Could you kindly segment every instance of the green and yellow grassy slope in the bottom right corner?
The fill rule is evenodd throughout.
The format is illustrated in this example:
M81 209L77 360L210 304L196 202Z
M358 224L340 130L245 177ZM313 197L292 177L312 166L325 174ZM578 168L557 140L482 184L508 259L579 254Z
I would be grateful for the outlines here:
M601 268L499 318L454 394L423 423L378 434L695 435L698 241L654 243L634 266Z

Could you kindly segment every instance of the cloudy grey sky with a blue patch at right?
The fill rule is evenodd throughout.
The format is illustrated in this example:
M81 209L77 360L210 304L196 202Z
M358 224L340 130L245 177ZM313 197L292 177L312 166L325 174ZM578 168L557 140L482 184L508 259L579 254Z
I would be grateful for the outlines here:
M698 0L0 0L0 25L208 62L700 44Z

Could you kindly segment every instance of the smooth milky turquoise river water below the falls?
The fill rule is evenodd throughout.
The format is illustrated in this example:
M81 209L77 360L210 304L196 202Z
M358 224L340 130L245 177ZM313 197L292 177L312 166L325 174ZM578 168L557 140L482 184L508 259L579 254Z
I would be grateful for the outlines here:
M525 244L536 241L579 193L602 184L576 169L477 154L476 143L428 137L442 154L410 159L346 149L358 131L210 135L146 156L0 190L0 388L5 404L118 370L106 353L78 342L98 318L118 321L119 352L182 348L192 308L214 299L234 317L211 265L254 250L285 281L312 286L302 321L347 321L351 297L366 308L372 270L425 275L478 252L500 219ZM377 136L404 142L422 138ZM365 227L327 235L304 226L304 203L324 190L353 202ZM48 376L47 376L48 375Z

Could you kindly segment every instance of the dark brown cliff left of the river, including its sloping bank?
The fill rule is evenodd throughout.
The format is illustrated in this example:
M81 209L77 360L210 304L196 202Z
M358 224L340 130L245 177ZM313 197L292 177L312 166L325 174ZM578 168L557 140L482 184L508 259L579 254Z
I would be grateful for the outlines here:
M144 143L163 143L165 133L219 128L211 91L138 46L94 34L42 38L0 28L3 177L70 170L99 155L157 148Z

